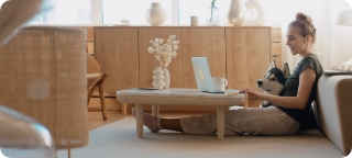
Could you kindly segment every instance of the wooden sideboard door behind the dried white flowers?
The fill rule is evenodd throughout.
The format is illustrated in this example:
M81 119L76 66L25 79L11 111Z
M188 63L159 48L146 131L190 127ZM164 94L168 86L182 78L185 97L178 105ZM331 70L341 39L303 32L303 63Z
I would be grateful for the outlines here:
M169 88L182 88L183 87L183 65L182 65L182 41L180 41L180 29L139 29L139 49L140 49L140 86L141 87L154 87L153 82L153 70L155 67L161 67L161 63L155 58L155 55L150 54L147 48L152 46L150 41L155 38L164 40L163 44L166 44L170 35L176 35L175 41L179 41L177 55L172 59L167 69L169 71L170 82Z

